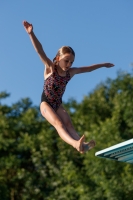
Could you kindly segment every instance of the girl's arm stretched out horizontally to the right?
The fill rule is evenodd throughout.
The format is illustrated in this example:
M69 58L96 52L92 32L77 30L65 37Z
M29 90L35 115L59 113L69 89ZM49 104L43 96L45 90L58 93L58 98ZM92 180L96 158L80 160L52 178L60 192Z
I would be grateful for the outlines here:
M101 64L95 64L91 66L86 66L86 67L73 67L70 69L71 76L74 76L75 74L80 74L80 73L85 73L85 72L91 72L93 70L99 69L101 67L113 67L114 64L112 63L101 63Z

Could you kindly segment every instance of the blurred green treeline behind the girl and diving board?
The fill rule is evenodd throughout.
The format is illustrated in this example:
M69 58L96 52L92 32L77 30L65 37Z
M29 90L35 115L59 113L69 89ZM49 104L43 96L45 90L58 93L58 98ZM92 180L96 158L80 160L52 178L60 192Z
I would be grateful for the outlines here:
M133 137L133 76L119 73L65 107L76 130L96 140L90 152L64 143L30 99L0 103L0 200L132 200L133 165L95 152Z

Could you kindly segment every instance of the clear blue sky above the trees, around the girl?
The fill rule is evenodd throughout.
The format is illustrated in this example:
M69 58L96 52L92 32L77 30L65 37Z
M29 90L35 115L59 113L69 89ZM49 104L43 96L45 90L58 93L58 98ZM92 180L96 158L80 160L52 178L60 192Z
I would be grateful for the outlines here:
M44 66L25 32L22 21L33 24L34 32L50 59L63 46L76 53L74 67L112 62L76 75L63 96L82 101L85 95L118 70L131 73L133 62L132 0L34 0L0 2L0 91L11 94L2 103L12 104L29 97L40 104Z

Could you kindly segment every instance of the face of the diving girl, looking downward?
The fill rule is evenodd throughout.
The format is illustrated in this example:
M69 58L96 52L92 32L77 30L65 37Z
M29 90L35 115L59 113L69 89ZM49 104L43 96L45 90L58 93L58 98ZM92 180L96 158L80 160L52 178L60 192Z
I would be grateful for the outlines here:
M58 57L59 66L63 71L69 70L74 62L74 55L71 53L66 53Z

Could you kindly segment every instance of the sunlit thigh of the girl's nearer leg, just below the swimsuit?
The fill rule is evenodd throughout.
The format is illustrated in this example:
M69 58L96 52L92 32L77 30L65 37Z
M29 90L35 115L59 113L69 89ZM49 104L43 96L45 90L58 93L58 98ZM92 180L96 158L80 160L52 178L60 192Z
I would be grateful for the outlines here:
M40 104L40 111L42 116L53 126L56 126L57 123L61 123L61 119L58 114L51 108L51 106L46 103L42 102Z

